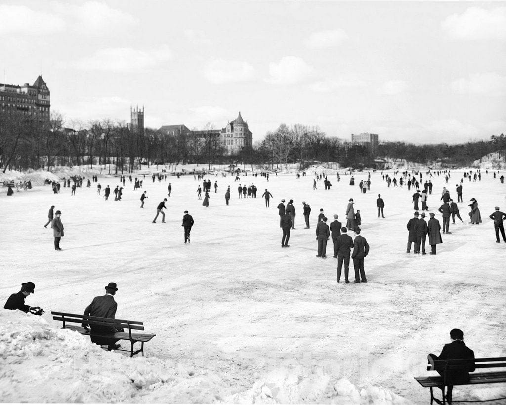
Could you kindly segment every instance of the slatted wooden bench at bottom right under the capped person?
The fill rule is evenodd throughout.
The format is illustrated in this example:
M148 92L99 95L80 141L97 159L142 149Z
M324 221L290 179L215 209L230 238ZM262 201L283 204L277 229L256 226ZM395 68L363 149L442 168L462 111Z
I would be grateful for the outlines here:
M459 370L469 369L469 364L474 362L476 369L496 369L506 368L506 357L482 357L482 358L459 358L451 360L434 360L431 356L429 358L429 366L427 371L448 371L448 370ZM474 385L474 384L492 384L506 382L506 371L497 372L485 372L485 373L471 373L469 374L469 381L465 383L452 383L448 384L446 381L447 373L444 373L445 378L441 376L431 377L415 377L414 379L418 383L426 388L431 389L431 404L433 401L437 403L446 403L445 396L443 400L436 398L433 393L434 387L446 387L448 385Z

